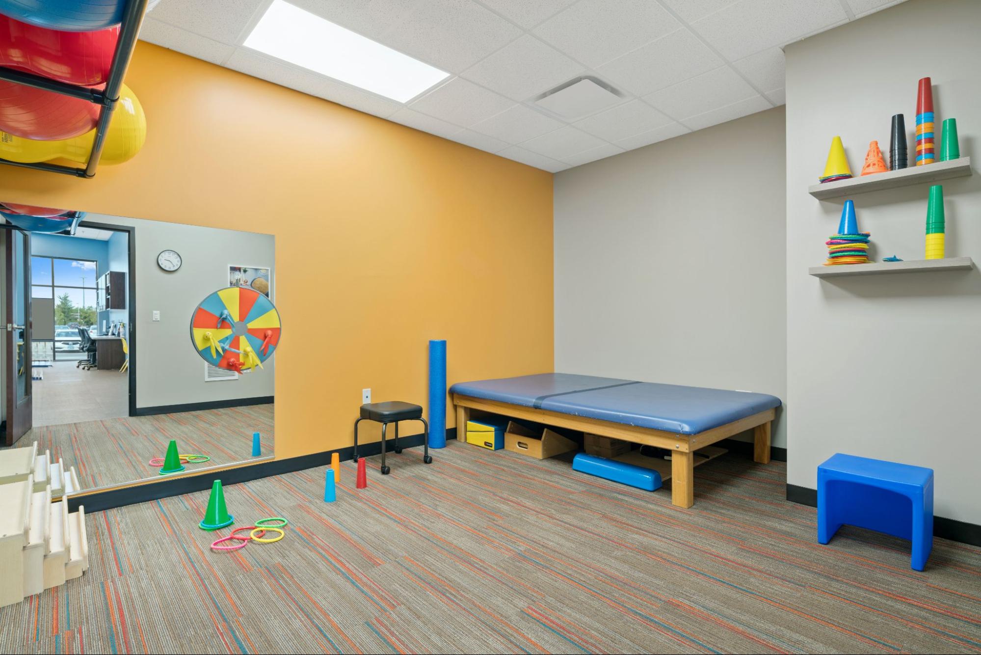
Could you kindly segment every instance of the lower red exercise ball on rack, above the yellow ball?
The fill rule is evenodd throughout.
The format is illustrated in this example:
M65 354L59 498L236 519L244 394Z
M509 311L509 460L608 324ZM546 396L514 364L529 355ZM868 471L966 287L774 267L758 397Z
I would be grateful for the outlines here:
M95 129L99 105L61 93L0 80L0 130L37 141L83 135Z

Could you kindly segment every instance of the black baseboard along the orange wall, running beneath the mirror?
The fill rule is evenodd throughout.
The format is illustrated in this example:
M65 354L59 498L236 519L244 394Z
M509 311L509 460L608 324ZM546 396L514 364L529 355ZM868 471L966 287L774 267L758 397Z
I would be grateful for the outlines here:
M446 441L455 439L456 428L447 428ZM388 447L386 452L391 453L392 449L394 448L393 443L391 440L387 440L386 443ZM423 435L413 434L404 437L399 436L398 445L402 448L417 448L423 445ZM215 480L221 480L222 486L227 487L232 484L238 484L239 482L257 480L261 477L282 475L284 473L291 473L293 471L303 470L305 468L326 466L331 464L331 456L334 453L337 453L341 462L348 462L354 459L354 447L347 446L345 448L338 448L334 451L324 451L323 453L302 455L300 457L287 458L285 460L272 460L270 462L261 462L250 466L239 466L238 468L227 468L225 470L216 470L212 472L208 472L208 469L204 469L204 472L198 475L169 477L149 484L138 484L132 487L110 489L108 491L102 491L81 497L69 496L68 508L69 512L77 512L78 506L81 505L85 508L85 514L92 514L94 512L103 512L105 510L112 510L118 507L126 507L127 505L135 505L137 503L160 500L161 498L168 498L170 496L180 496L181 494L187 494L193 491L204 491L206 489L210 489ZM358 446L358 455L360 457L371 457L373 455L381 454L381 441L360 444ZM433 456L434 461L439 460L439 450L430 450L430 455ZM422 459L421 453L419 454L419 458ZM393 467L397 466L397 460L392 461L391 465Z

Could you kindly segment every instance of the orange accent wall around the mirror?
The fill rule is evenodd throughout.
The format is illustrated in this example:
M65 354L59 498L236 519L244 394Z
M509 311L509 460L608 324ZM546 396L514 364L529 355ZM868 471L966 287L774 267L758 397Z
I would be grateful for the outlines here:
M142 41L127 83L133 160L0 199L276 235L278 459L350 445L363 388L427 405L429 339L450 383L552 370L550 173Z

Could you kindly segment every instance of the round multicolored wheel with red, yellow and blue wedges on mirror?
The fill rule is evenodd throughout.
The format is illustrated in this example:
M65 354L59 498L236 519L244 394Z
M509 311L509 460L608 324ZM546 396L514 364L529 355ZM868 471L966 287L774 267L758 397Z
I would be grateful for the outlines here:
M190 338L197 354L213 366L235 372L268 359L280 343L280 312L254 289L216 291L194 309Z

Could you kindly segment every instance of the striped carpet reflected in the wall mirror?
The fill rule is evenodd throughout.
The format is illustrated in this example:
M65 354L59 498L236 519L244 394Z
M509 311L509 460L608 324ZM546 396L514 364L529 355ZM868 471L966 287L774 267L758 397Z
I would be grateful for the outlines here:
M50 450L66 468L75 466L81 488L92 489L159 475L147 462L163 457L171 439L181 453L211 458L184 464L187 470L250 460L253 432L261 435L263 456L272 455L272 404L45 425L30 430L15 448L36 441L39 453Z

